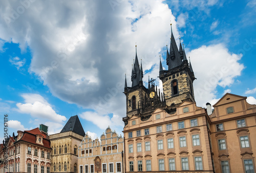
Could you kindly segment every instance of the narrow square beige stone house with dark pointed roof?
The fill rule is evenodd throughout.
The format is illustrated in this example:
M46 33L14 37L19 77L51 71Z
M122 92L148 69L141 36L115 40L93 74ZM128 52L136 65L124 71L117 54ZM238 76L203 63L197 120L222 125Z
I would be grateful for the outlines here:
M77 115L70 117L60 133L50 135L51 172L77 172L78 146L85 133Z

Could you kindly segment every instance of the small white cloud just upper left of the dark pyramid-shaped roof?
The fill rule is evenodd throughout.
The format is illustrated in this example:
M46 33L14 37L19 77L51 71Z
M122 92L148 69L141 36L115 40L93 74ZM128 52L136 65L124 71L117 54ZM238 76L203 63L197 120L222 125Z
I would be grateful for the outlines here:
M18 112L30 114L34 118L43 118L52 120L58 123L66 121L65 116L56 114L50 104L38 94L23 94L25 103L17 103Z

